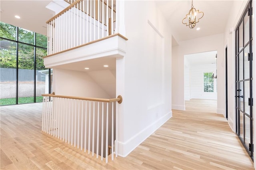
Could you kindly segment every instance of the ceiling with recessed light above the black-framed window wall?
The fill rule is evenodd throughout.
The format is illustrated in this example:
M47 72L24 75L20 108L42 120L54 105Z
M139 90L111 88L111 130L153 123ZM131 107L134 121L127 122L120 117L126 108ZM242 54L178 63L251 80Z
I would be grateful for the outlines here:
M47 35L46 21L54 16L54 12L45 8L51 0L0 0L0 20ZM20 16L20 19L14 16Z

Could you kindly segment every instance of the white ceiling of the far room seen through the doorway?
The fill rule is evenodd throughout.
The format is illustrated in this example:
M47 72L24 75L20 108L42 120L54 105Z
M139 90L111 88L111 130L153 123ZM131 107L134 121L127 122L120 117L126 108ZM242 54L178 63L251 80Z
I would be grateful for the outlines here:
M212 64L216 63L216 54L217 51L208 51L202 53L194 53L184 55L184 63L187 67L192 65L204 65L204 64Z

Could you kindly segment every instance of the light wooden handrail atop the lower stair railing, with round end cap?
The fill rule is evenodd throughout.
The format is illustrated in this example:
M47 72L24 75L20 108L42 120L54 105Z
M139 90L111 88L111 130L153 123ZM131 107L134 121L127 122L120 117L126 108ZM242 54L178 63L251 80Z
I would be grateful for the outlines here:
M102 98L92 98L92 97L76 97L76 96L55 95L54 92L52 94L42 94L42 96L59 97L59 98L66 98L66 99L88 100L88 101L99 101L99 102L108 102L108 103L117 101L119 104L122 103L122 100L123 100L121 95L118 95L118 97L114 98L114 99L102 99Z

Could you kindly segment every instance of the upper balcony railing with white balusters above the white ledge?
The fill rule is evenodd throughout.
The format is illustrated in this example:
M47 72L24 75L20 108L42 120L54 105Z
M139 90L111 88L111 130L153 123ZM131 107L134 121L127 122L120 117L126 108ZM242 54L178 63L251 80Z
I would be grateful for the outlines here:
M48 20L48 55L110 36L116 28L116 0L70 0Z

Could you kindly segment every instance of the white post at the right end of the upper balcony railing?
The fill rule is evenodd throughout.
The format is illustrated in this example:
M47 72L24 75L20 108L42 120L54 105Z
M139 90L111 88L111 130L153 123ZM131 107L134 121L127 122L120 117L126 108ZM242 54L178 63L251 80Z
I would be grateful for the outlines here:
M124 0L116 1L116 33L126 36L124 25Z

